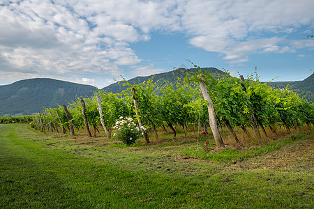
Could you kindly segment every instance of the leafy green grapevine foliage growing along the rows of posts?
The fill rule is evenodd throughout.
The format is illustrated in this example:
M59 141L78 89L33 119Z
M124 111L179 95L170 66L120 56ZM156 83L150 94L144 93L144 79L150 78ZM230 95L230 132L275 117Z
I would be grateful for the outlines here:
M197 68L196 65L195 68ZM207 70L202 70L200 67L197 69L197 72L194 70L191 74L181 72L186 73L184 81L179 79L179 82L175 84L161 80L154 82L154 78L141 84L130 84L124 80L120 82L121 86L126 87L123 93L97 91L91 98L84 98L87 123L96 130L100 121L103 121L104 124L101 125L105 125L105 132L110 137L114 123L120 117L135 118L136 115L145 127L155 130L156 138L158 138L156 128L163 125L169 125L175 137L176 125L185 127L198 120L202 123L208 121L207 102L197 89L201 79L200 73L204 74L204 82L214 103L218 122L220 125L224 123L228 125L230 131L232 127L244 128L253 125L250 120L252 115L260 125L285 125L287 129L303 123L313 123L313 104L301 100L288 88L280 91L271 88L268 84L261 84L256 74L249 75L248 79L242 81L225 72L223 76L216 79ZM100 118L96 95L100 98L103 118ZM138 102L137 110L134 107L133 97ZM72 116L71 122L77 129L84 126L80 100L81 98L77 97L68 104L68 111ZM60 120L57 119L57 111ZM46 108L43 116L44 123L47 121L53 124L50 112L57 121L57 125L66 127L70 123L61 106L54 109ZM3 123L6 121L16 123L19 118L3 119ZM35 123L38 125L38 121ZM128 138L131 137L129 130L126 130L124 134ZM129 144L129 142L125 143Z

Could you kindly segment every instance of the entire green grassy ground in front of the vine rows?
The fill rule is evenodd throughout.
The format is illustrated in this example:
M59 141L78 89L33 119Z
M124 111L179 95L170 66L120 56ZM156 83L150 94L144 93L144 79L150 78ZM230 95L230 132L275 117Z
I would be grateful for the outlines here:
M237 150L213 140L128 147L1 124L0 208L314 208L313 131Z

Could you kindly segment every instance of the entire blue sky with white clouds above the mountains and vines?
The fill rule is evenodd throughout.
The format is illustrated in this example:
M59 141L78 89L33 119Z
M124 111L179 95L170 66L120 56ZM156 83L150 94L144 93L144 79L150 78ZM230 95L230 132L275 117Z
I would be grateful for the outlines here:
M103 88L200 67L268 82L314 71L313 0L0 0L0 85Z

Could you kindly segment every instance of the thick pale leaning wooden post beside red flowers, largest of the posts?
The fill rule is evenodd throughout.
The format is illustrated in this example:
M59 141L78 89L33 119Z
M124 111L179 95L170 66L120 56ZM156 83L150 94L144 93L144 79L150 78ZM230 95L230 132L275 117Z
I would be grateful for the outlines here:
M223 139L221 138L221 135L220 135L220 132L219 132L218 126L217 126L214 104L211 101L211 98L210 98L209 93L207 91L207 87L206 87L206 84L204 82L204 79L205 79L204 74L201 74L200 88L201 88L204 100L206 100L208 102L207 109L208 109L208 114L209 114L209 126L211 127L211 132L213 132L214 139L216 141L216 145L218 147L224 148L225 144L223 144Z

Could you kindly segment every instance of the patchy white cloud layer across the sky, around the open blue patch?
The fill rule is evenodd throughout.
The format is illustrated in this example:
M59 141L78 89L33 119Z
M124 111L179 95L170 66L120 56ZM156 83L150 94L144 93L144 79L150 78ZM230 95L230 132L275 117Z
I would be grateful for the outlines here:
M5 77L8 71L21 77L115 76L124 74L124 65L137 65L135 75L163 72L141 65L130 47L149 41L153 32L186 35L190 45L217 52L229 63L244 63L250 54L314 49L313 39L285 37L300 26L314 26L312 0L24 0L2 1L0 10Z

